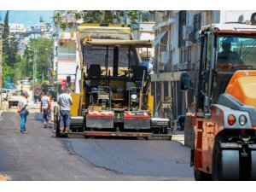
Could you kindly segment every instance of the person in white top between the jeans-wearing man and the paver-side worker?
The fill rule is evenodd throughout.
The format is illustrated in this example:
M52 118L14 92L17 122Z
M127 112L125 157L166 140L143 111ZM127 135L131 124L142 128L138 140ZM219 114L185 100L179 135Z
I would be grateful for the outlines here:
M40 105L40 112L43 112L43 121L44 121L44 128L50 127L51 123L51 112L50 112L50 99L49 99L49 93L45 95L45 93L42 93L41 98L41 105Z

